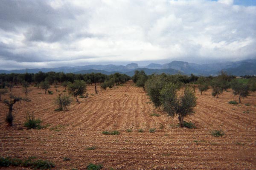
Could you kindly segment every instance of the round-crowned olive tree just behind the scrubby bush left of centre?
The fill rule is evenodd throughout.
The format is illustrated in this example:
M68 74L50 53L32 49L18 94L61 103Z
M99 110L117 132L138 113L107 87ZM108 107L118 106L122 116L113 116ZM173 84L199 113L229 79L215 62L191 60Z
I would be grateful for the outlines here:
M77 96L83 96L86 92L86 82L75 80L73 83L69 83L67 90L76 98L76 102L79 102Z

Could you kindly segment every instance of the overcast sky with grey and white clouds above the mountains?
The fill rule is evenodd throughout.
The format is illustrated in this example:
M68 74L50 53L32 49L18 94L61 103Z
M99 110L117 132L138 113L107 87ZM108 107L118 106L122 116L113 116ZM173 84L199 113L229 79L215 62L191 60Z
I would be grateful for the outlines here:
M0 0L0 69L247 58L256 0Z

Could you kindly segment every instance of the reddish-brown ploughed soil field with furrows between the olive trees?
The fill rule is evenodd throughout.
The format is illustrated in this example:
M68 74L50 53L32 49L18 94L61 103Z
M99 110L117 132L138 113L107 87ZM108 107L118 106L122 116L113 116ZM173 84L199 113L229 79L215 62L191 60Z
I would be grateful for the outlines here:
M50 89L53 95L31 89L31 102L14 105L13 127L6 126L8 108L0 103L0 156L34 156L53 161L56 170L82 170L89 163L102 164L104 170L256 169L256 93L231 105L229 101L238 101L231 90L217 99L211 90L200 95L196 89L196 113L185 120L197 128L188 129L177 127L176 117L155 109L143 89L132 82L98 94L94 86L87 86L89 98L79 103L73 99L69 111L61 112L54 111L58 108L54 88ZM20 86L12 91L24 96ZM27 113L40 118L46 127L27 130L23 126ZM156 131L150 133L151 128ZM120 134L102 134L106 130ZM214 137L212 130L223 130L225 136ZM70 160L64 161L65 157Z

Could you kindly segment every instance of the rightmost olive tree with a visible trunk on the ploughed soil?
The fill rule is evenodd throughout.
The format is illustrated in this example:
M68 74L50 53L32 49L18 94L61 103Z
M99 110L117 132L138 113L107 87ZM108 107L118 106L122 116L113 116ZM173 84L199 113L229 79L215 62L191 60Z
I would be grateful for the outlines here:
M241 97L247 97L249 95L249 86L239 82L237 79L231 81L231 87L234 95L239 95L239 103L241 103Z

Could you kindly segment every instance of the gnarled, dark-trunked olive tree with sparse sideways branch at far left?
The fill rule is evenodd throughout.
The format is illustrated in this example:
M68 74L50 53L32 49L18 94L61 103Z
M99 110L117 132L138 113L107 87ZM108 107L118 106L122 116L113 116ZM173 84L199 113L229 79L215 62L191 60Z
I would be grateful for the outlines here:
M3 100L3 103L7 105L9 108L9 112L6 114L6 122L8 123L9 126L12 126L12 122L13 122L13 116L12 116L13 105L16 102L21 102L21 101L30 102L30 99L22 98L20 96L14 96L13 94L10 94L9 100L7 99Z

